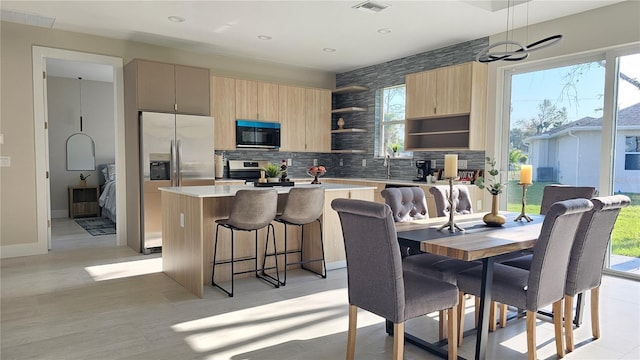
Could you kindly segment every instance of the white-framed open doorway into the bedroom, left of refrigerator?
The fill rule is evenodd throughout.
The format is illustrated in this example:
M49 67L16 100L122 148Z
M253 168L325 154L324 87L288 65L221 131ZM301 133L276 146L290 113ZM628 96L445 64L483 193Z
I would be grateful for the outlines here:
M37 46L33 54L34 89L42 89L34 91L34 121L44 129L36 134L36 169L47 174L37 183L38 227L46 229L38 232L38 242L50 250L125 245L122 59ZM90 165L82 170L68 165L68 154L77 155L67 148L68 139L77 134L93 143ZM112 220L100 217L100 195L109 185L105 168L112 170L114 189L122 183L111 194L117 204ZM116 169L122 169L120 176ZM103 220L118 225L108 229L98 224Z

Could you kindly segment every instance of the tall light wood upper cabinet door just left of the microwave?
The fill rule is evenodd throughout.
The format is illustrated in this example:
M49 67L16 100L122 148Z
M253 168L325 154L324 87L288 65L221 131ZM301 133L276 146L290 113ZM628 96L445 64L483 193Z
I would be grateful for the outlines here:
M211 77L211 114L217 150L236 149L236 79Z

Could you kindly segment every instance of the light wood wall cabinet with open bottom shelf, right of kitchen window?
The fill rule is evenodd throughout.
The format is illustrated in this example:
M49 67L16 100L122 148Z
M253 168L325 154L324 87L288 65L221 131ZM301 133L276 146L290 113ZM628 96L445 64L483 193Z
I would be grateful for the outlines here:
M476 62L406 76L405 148L484 150L487 66Z

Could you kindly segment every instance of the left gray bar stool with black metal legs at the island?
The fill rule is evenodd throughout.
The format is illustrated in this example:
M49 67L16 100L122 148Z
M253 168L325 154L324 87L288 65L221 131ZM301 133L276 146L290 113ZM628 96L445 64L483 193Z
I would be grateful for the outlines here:
M275 189L268 190L238 190L233 203L231 205L231 211L229 218L216 220L216 240L213 247L213 268L211 269L211 285L220 288L230 297L233 296L233 278L235 275L255 273L257 278L267 281L276 288L280 287L280 275L278 274L278 259L276 257L276 277L272 278L263 277L258 274L259 271L264 273L263 268L258 268L258 230L267 228L267 239L265 242L265 248L269 244L269 231L272 234L272 242L274 252L276 250L276 234L271 223L276 216L278 208L278 193ZM231 258L228 260L216 260L218 256L218 230L220 226L231 230ZM234 257L234 232L235 231L255 231L255 253L253 256L236 259ZM254 269L246 271L234 270L234 263L244 261L254 261ZM215 282L216 265L231 264L231 291L223 288L220 284ZM272 281L273 279L273 281Z

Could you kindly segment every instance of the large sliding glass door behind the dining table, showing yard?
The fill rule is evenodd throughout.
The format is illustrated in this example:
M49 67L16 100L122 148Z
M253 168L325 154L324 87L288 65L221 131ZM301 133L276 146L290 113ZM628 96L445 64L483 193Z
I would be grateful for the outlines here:
M636 48L637 49L637 48ZM635 49L505 71L509 169L507 209L519 211L520 165L533 165L527 213L540 211L545 185L594 186L624 194L611 236L608 269L640 274L640 54ZM508 152L507 152L508 151ZM634 274L634 275L629 275Z

